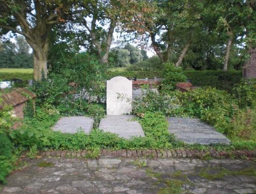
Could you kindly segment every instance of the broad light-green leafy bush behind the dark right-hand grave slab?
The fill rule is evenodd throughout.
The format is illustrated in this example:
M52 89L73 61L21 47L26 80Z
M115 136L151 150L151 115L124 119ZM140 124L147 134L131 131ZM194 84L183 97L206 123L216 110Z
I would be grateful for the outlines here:
M200 88L177 95L185 113L214 125L221 133L227 133L227 126L237 107L230 94L217 89Z

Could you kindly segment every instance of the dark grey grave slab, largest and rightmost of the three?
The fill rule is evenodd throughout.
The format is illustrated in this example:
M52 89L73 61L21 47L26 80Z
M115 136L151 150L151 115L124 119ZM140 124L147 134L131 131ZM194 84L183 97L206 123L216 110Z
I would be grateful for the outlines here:
M185 143L199 143L204 145L211 143L230 143L213 126L200 119L169 117L167 120L169 122L169 132Z

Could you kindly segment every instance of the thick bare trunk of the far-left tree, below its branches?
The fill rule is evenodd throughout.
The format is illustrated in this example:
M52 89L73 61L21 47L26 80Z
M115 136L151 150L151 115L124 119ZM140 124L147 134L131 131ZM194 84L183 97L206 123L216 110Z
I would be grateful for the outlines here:
M33 78L35 81L41 81L42 78L47 78L47 53L35 53L33 51L34 72Z

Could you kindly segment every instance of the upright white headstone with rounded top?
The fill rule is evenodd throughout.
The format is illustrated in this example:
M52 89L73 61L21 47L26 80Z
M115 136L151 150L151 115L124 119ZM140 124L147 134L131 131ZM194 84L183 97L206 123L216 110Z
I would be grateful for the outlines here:
M132 112L132 84L133 81L125 77L117 76L106 81L106 114L122 115ZM118 94L122 98L118 98Z

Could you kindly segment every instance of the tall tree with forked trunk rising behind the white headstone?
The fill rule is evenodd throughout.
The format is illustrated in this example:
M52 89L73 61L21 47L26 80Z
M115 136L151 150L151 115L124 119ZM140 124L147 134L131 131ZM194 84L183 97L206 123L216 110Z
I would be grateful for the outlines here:
M149 0L91 0L81 1L76 8L71 30L78 27L84 39L91 40L102 63L108 63L115 28L137 29L143 25ZM82 38L82 37L81 37Z

